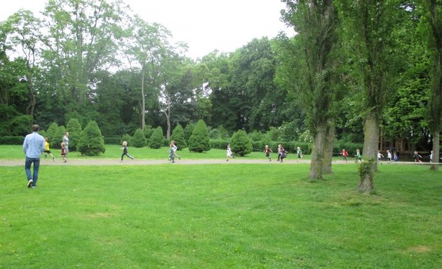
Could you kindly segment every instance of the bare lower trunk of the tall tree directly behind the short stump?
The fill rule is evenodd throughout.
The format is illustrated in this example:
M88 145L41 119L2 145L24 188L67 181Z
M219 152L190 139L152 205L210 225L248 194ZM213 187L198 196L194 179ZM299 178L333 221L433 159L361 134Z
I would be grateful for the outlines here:
M366 122L363 130L363 150L362 159L368 160L372 163L373 172L377 171L377 148L379 139L379 121L377 120L377 113L370 111L367 114Z

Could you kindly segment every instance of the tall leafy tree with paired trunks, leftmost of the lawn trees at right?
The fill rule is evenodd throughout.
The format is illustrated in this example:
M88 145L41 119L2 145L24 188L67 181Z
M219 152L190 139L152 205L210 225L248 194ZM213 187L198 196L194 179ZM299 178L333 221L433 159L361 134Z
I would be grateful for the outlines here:
M337 89L334 83L334 53L337 43L337 11L333 1L284 1L287 11L283 19L298 33L297 57L300 64L295 90L304 103L309 129L314 136L310 179L322 179L331 167L334 135L334 103ZM295 73L293 72L293 73ZM293 78L292 78L293 79ZM330 163L330 165L328 165Z

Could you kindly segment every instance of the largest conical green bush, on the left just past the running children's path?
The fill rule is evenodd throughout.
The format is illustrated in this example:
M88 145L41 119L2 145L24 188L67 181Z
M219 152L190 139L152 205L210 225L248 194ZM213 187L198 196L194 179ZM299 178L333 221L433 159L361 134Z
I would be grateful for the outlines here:
M95 120L91 120L84 127L77 146L81 155L98 156L105 153L105 139L102 137L100 127L98 127Z

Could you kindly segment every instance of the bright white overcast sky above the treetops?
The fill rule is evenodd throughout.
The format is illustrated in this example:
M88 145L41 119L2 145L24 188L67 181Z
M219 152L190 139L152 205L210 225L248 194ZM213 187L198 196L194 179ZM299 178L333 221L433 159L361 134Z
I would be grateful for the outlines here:
M233 52L254 38L293 35L280 21L285 8L280 0L123 0L149 23L158 22L175 41L189 46L188 57L203 57L213 50ZM6 4L7 3L7 4ZM39 15L46 0L0 0L0 21L20 8Z

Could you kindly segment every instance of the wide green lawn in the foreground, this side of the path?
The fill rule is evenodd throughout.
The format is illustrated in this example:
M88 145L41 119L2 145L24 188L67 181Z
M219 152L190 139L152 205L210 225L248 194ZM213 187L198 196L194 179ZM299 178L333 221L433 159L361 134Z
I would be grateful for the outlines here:
M135 155L135 153L134 153ZM442 268L442 177L356 165L0 167L0 268Z

